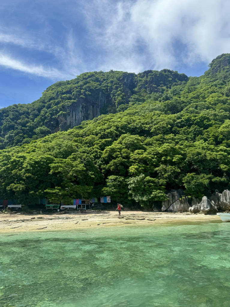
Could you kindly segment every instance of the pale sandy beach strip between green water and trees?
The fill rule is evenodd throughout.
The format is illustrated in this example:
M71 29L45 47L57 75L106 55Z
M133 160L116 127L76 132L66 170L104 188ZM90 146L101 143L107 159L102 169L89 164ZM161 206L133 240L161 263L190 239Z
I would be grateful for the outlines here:
M189 212L55 212L43 214L0 214L0 233L28 231L61 231L125 225L177 225L194 223L218 223L219 216Z

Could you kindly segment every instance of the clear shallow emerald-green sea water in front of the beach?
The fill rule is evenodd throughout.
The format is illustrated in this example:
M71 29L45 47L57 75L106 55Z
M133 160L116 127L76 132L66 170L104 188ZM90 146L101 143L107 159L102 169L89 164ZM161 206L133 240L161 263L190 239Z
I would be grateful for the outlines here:
M1 307L230 305L230 223L0 238Z

